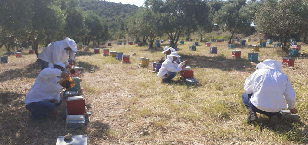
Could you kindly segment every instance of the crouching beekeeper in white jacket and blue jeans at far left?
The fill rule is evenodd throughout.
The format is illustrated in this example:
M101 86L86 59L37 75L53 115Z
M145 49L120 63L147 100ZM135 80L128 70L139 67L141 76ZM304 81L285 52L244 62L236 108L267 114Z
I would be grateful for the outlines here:
M47 114L61 104L62 86L58 82L60 78L69 76L61 62L50 63L48 68L39 73L25 98L26 109L30 111L29 117L33 121L42 122Z

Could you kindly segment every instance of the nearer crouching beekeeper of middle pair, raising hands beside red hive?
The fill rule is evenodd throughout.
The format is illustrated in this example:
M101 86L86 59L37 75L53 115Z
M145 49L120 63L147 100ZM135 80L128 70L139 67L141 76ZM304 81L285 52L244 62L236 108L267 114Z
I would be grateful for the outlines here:
M162 78L163 82L170 82L171 79L176 76L176 73L185 68L187 61L183 61L180 64L175 62L179 57L181 56L178 55L177 52L171 52L170 55L167 55L167 59L161 64L157 76Z

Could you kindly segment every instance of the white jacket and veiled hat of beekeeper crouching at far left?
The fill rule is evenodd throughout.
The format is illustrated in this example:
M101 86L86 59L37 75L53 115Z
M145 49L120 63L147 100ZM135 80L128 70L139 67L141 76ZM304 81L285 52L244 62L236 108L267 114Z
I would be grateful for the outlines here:
M55 63L65 68L63 63ZM32 102L51 101L56 99L60 102L60 92L62 86L58 83L60 81L62 71L54 69L53 64L49 64L48 68L43 69L36 78L34 85L31 87L29 93L26 95L25 104Z

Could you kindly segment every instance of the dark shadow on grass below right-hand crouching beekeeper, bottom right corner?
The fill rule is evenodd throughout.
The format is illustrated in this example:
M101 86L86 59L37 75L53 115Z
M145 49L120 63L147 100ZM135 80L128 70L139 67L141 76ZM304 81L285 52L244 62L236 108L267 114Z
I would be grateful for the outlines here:
M286 136L287 139L297 142L297 143L308 143L306 140L307 133L300 128L307 128L307 125L302 121L292 121L292 120L280 120L276 126L270 125L270 121L267 118L259 118L260 130L265 128L270 129L277 134Z

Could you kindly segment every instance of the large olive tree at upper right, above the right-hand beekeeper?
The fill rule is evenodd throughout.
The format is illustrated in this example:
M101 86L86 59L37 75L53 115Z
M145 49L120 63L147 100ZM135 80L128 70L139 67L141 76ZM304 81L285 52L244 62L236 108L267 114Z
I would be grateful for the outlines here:
M282 51L287 51L287 41L298 32L302 13L306 12L301 0L265 0L256 13L255 27L257 31L278 36Z

